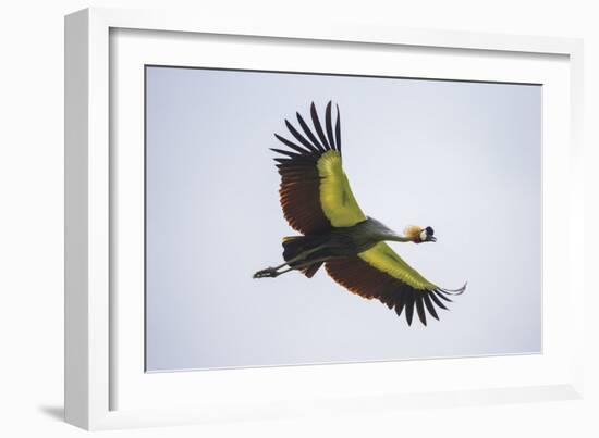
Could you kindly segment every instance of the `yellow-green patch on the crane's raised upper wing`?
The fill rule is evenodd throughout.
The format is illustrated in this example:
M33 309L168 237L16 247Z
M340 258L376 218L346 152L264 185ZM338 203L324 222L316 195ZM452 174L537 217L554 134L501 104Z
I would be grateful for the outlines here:
M349 227L366 221L357 204L350 182L341 166L338 151L325 152L317 162L320 176L320 205L333 227Z

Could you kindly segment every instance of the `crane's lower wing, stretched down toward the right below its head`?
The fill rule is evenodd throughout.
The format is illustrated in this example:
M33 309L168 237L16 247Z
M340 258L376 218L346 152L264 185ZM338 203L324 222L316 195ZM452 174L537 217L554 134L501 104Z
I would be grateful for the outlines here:
M386 242L379 242L367 251L327 262L327 272L347 290L364 298L376 298L395 309L412 325L414 308L420 322L426 325L426 313L439 320L436 305L448 309L443 301L452 301L448 296L460 295L466 285L457 290L440 288L423 277L400 258ZM426 309L426 311L425 311Z

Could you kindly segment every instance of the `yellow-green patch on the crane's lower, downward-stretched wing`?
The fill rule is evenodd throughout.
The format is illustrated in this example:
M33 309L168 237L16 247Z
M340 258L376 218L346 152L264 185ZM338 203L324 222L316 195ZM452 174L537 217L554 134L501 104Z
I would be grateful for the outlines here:
M381 241L375 245L369 250L360 252L358 256L372 267L398 278L415 289L438 289L435 284L427 280L416 270L405 263L386 242Z

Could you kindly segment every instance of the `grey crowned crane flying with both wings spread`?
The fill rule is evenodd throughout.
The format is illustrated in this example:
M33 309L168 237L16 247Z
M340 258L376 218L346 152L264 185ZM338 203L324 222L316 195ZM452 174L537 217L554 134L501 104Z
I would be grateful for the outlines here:
M376 298L405 312L412 325L414 309L427 324L427 313L439 320L436 308L460 289L444 289L427 280L411 267L386 241L435 242L431 227L407 226L398 235L379 221L364 214L350 188L342 167L341 122L339 105L333 128L332 103L327 104L325 127L314 102L310 116L314 130L296 113L300 132L289 121L285 125L294 138L274 137L289 149L271 149L281 175L280 201L283 214L302 236L283 238L284 263L254 274L254 278L274 278L300 271L311 278L326 264L327 273L351 292L366 299Z

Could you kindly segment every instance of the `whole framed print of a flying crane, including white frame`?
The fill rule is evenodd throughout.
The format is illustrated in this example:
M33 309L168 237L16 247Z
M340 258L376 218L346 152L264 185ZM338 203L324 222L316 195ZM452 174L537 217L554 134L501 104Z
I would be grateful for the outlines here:
M580 41L196 18L65 21L70 423L580 397Z

